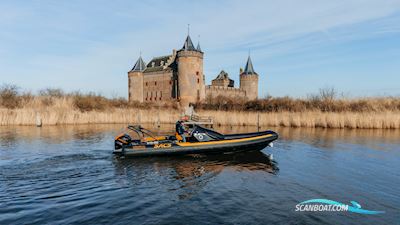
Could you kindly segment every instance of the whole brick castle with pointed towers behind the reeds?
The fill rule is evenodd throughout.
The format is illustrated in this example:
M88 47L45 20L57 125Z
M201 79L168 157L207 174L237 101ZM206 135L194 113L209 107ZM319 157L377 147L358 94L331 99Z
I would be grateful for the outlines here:
M254 71L250 56L245 69L240 69L240 86L225 71L205 85L203 56L200 43L197 47L188 35L183 47L171 55L153 58L147 65L140 56L128 72L129 101L167 102L178 101L182 106L219 95L257 99L258 74Z

